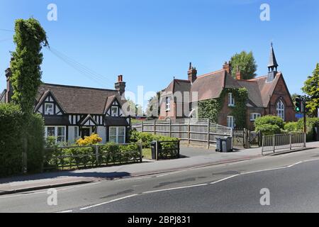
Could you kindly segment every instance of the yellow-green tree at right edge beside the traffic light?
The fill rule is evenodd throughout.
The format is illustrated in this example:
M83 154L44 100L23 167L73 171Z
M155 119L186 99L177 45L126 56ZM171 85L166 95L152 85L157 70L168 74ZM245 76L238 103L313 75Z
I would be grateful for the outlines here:
M307 109L309 114L318 117L319 108L319 63L313 71L313 75L309 76L304 86L302 88L303 92L306 93L308 97Z

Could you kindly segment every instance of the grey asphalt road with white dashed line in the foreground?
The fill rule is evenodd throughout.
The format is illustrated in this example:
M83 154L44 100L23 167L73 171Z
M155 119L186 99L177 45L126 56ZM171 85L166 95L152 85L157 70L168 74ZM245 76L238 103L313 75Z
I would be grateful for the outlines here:
M0 212L319 212L319 149L0 196ZM262 206L261 189L269 189Z

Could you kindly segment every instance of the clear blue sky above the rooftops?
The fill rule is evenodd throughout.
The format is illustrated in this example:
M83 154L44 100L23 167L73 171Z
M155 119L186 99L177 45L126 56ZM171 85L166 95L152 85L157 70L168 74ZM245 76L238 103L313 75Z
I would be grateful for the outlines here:
M57 21L47 21L47 5ZM261 21L261 4L271 21ZM54 50L96 72L98 79L43 50L43 81L113 89L123 74L127 89L158 91L173 77L187 78L189 62L198 74L219 70L235 52L254 52L258 75L267 74L270 42L291 93L319 62L319 1L254 0L1 0L0 29L17 18L37 18ZM0 30L0 88L15 46L12 32ZM94 77L96 78L96 77Z

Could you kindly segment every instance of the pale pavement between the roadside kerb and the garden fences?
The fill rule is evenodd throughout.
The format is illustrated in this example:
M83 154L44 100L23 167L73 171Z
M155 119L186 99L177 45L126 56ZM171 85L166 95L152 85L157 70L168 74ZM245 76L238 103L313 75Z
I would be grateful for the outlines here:
M308 143L307 146L308 148L318 148L319 142ZM182 158L177 160L161 160L157 162L143 160L142 163L132 165L118 165L76 171L47 172L37 175L3 178L0 179L0 195L28 192L37 189L65 187L90 182L101 182L103 180L155 175L262 157L261 148L237 150L233 153L216 153L213 150L203 148L181 148L181 155Z

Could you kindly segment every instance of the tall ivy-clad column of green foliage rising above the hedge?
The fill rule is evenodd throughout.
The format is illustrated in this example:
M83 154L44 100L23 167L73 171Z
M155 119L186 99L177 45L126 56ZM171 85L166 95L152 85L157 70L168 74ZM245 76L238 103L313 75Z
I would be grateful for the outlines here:
M33 114L33 105L41 84L43 61L42 46L47 45L44 29L34 18L18 19L13 41L16 51L12 52L11 84L12 100L21 106L24 114Z

